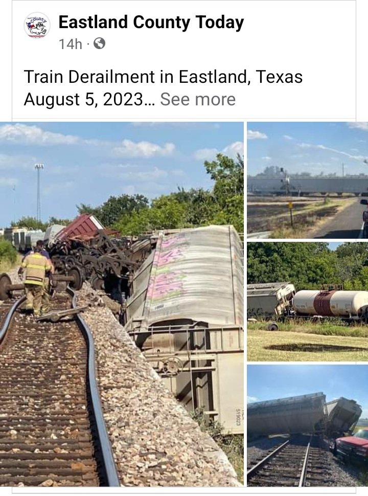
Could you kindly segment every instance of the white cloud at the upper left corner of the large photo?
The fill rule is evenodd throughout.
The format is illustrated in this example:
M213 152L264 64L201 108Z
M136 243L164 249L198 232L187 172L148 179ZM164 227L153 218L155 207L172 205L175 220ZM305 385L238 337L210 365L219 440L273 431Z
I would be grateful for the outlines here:
M81 142L78 136L44 131L27 124L5 124L0 126L0 141L22 145L75 145Z

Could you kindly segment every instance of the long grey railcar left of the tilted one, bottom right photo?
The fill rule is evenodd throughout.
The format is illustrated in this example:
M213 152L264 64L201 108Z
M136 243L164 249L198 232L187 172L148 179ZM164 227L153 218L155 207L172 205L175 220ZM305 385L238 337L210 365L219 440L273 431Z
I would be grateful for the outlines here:
M327 416L323 393L249 403L247 431L251 436L318 433L324 431Z

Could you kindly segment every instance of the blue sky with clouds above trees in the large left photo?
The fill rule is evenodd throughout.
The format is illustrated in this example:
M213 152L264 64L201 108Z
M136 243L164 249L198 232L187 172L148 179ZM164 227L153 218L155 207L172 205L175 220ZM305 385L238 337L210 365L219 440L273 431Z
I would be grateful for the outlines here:
M42 220L73 218L110 195L210 188L204 160L243 153L243 139L241 122L0 122L0 227L36 215L35 163Z

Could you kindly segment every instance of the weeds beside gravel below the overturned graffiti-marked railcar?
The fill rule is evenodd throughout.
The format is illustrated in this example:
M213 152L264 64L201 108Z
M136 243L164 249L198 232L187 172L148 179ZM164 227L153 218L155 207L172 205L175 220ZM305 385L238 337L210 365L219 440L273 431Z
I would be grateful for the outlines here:
M233 465L239 482L244 484L244 436L223 434L222 425L219 422L209 420L203 414L203 408L197 408L190 414L198 422L201 431L208 433L220 446Z

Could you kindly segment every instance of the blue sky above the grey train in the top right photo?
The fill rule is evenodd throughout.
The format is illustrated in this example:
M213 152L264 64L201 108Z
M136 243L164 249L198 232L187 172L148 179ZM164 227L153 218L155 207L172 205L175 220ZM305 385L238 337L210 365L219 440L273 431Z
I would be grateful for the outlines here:
M367 122L248 122L247 172L266 166L289 173L368 174Z

